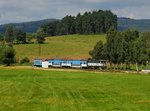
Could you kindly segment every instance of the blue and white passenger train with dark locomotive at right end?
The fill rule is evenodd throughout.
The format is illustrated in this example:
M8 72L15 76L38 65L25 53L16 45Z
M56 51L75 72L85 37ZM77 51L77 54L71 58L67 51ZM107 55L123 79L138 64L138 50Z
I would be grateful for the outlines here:
M79 60L79 59L34 59L34 67L50 68L81 68L81 69L106 69L106 60Z

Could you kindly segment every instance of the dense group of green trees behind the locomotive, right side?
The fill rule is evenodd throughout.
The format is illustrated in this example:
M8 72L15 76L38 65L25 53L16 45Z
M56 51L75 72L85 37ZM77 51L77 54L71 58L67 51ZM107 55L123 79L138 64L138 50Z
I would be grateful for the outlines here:
M138 32L128 29L118 32L111 28L107 32L106 43L99 41L89 52L93 59L106 59L111 68L130 69L135 64L137 71L139 65L146 65L150 61L150 32Z

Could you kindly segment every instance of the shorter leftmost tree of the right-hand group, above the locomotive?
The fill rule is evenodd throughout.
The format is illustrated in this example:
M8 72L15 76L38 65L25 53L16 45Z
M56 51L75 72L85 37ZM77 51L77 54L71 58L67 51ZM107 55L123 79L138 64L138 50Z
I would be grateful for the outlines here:
M103 51L104 51L103 42L99 41L94 46L94 49L89 52L89 54L92 56L92 59L100 60L104 59Z

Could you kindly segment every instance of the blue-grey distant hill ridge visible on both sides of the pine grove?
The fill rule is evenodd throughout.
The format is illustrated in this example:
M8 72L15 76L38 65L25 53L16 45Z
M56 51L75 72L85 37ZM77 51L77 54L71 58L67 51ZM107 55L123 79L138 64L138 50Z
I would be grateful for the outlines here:
M41 25L56 21L57 19L45 19L39 21L23 22L23 23L11 23L17 28L22 29L25 32L35 32ZM0 25L0 32L5 32L6 27L10 24ZM128 28L135 28L139 31L150 31L150 19L130 19L130 18L118 18L118 30L123 31Z

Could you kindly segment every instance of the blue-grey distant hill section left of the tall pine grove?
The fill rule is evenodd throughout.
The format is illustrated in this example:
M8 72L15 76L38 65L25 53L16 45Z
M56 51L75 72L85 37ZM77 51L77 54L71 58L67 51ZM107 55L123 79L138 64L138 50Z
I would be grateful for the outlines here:
M35 32L38 27L40 27L41 25L48 23L48 22L53 22L56 21L57 19L45 19L45 20L39 20L39 21L31 21L31 22L23 22L23 23L10 23L10 24L4 24L4 25L0 25L0 32L5 32L6 27L8 25L13 25L16 28L20 28L21 30L23 30L24 32Z

